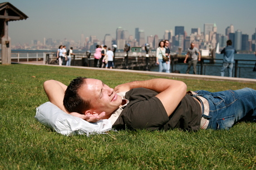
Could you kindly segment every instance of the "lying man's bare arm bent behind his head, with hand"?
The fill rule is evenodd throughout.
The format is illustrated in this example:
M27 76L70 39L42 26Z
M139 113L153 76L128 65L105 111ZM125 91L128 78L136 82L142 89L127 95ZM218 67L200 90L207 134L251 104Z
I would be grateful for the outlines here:
M43 83L43 88L45 89L49 101L52 102L52 104L58 106L61 110L65 111L67 114L80 117L81 119L86 120L88 122L97 122L105 116L105 113L101 113L100 115L81 115L77 112L68 112L63 105L63 99L67 86L61 83L60 81L47 80L45 81L45 83Z

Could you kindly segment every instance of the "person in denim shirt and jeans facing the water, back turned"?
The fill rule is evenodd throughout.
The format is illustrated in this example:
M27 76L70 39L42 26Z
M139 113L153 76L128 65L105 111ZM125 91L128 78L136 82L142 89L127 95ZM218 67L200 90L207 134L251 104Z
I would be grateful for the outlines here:
M229 39L227 40L227 47L221 50L220 54L223 54L223 64L220 70L220 76L224 76L225 69L228 68L228 76L232 77L232 69L233 69L233 62L234 62L234 54L237 51L232 47L232 41Z

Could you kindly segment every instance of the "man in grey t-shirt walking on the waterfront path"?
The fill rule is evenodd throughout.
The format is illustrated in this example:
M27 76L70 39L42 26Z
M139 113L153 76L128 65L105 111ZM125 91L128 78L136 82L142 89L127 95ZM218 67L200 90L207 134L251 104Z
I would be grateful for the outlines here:
M196 74L196 64L198 64L198 61L201 61L201 54L200 54L200 51L197 48L195 48L194 43L190 44L190 48L186 53L186 58L184 60L184 63L186 63L187 59L189 59L189 62L188 62L188 69L186 70L186 74L189 74L191 65L193 65L194 74Z

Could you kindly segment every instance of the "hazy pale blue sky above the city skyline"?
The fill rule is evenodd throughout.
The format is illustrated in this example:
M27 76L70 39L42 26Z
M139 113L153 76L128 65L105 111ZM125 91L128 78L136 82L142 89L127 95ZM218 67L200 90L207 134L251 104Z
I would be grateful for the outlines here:
M218 33L224 34L230 24L251 38L255 33L255 0L215 1L88 1L88 0L9 0L29 18L9 22L9 36L14 43L31 43L43 38L80 40L105 34L115 38L117 27L135 34L135 28L144 29L145 35L163 37L165 30L184 26L188 34L191 28L201 28L204 23L216 23Z

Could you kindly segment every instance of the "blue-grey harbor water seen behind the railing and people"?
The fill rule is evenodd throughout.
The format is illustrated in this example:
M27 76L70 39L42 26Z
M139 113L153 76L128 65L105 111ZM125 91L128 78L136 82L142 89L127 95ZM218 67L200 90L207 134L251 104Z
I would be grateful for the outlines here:
M12 57L17 54L17 52L23 52L20 53L21 56L26 56L27 53L29 53L29 56L31 55L38 55L38 56L43 56L43 52L45 53L55 53L56 50L49 50L49 51L42 51L42 50L12 50ZM38 54L37 54L38 53ZM81 51L81 50L74 50L73 53L75 54L85 54L86 51ZM184 55L185 53L183 53ZM93 56L93 52L91 54ZM119 55L117 53L117 55ZM120 53L120 55L123 55L123 53ZM256 79L256 71L253 71L254 64L256 63L256 57L254 54L235 54L235 59L237 60L245 60L245 61L239 61L239 68L237 71L237 76L238 78L249 78L249 79ZM221 60L215 60L214 64L209 64L209 60L204 61L204 67L203 67L203 75L220 75L220 69L221 65L223 63L223 54L216 54L216 59L221 59ZM253 60L253 61L246 61L246 60ZM208 62L208 63L207 63ZM235 72L235 64L233 66L233 77L234 77L234 72ZM188 64L184 63L178 63L175 64L173 70L179 70L180 73L185 74L186 69L188 68ZM200 64L198 63L197 66L198 74L200 74ZM150 69L150 71L158 71L158 66L154 66ZM193 74L193 67L191 66L190 68L190 74ZM228 71L227 69L225 70L225 76L228 76Z

